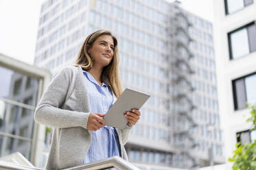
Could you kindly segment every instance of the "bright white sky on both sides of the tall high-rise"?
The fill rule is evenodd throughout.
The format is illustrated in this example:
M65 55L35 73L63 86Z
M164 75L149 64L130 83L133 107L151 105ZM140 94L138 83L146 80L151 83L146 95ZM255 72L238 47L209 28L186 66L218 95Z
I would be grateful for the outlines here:
M44 1L0 0L1 54L33 64L39 14ZM213 0L180 1L185 10L213 21Z

